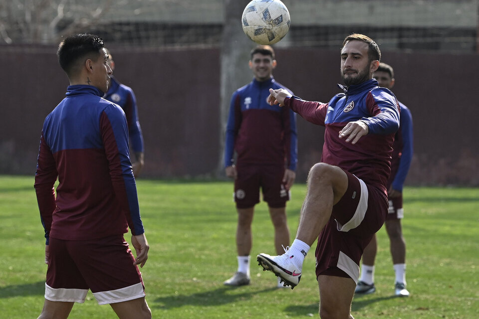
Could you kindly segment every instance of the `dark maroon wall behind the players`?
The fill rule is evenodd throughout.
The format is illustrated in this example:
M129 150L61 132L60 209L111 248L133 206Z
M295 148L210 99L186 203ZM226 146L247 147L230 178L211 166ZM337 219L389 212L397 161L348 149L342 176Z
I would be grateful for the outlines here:
M116 78L138 100L142 177L215 176L220 50L110 49ZM337 50L276 51L275 78L297 96L324 102L339 92ZM477 55L385 51L382 60L393 65L393 91L413 115L415 154L406 184L479 186ZM52 46L0 46L0 65L0 173L33 175L43 119L64 97L68 80ZM320 159L323 132L298 117L299 182Z

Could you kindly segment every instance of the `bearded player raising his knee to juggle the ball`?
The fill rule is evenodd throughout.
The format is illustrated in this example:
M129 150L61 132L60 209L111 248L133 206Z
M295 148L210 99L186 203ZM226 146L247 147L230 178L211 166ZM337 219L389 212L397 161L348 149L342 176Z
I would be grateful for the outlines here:
M341 47L345 86L329 103L309 102L285 90L270 89L270 104L284 105L305 120L325 127L321 161L308 175L296 239L279 256L259 254L264 270L294 288L317 239L316 279L322 319L353 318L351 302L359 261L388 209L386 183L391 172L399 105L394 94L372 78L381 51L370 37L347 36Z

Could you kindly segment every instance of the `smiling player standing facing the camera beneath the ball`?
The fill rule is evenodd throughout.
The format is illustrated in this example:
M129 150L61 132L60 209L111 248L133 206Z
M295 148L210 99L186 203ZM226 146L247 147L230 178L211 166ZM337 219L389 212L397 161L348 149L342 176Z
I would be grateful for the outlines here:
M238 271L225 282L227 286L249 284L251 222L254 205L259 203L260 187L274 225L276 251L280 253L282 246L289 245L286 201L296 178L295 114L286 108L271 107L267 102L269 88L286 89L272 76L276 67L274 51L269 45L259 45L250 56L249 68L254 78L233 94L226 130L225 169L226 175L235 179L238 211ZM279 278L277 287L283 287Z

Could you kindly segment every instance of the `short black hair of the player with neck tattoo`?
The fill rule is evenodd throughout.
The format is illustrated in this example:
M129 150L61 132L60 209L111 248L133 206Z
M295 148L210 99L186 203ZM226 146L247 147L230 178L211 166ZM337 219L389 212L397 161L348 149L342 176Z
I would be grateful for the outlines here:
M60 42L56 54L58 63L68 76L75 73L77 62L82 58L97 59L103 48L103 39L93 34L74 34ZM83 62L83 61L82 61Z

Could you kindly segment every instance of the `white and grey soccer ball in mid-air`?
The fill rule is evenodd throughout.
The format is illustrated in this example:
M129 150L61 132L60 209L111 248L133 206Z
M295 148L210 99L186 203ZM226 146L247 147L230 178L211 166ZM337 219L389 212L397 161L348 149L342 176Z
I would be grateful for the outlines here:
M280 0L252 0L241 17L244 34L258 44L274 44L289 31L289 11Z

